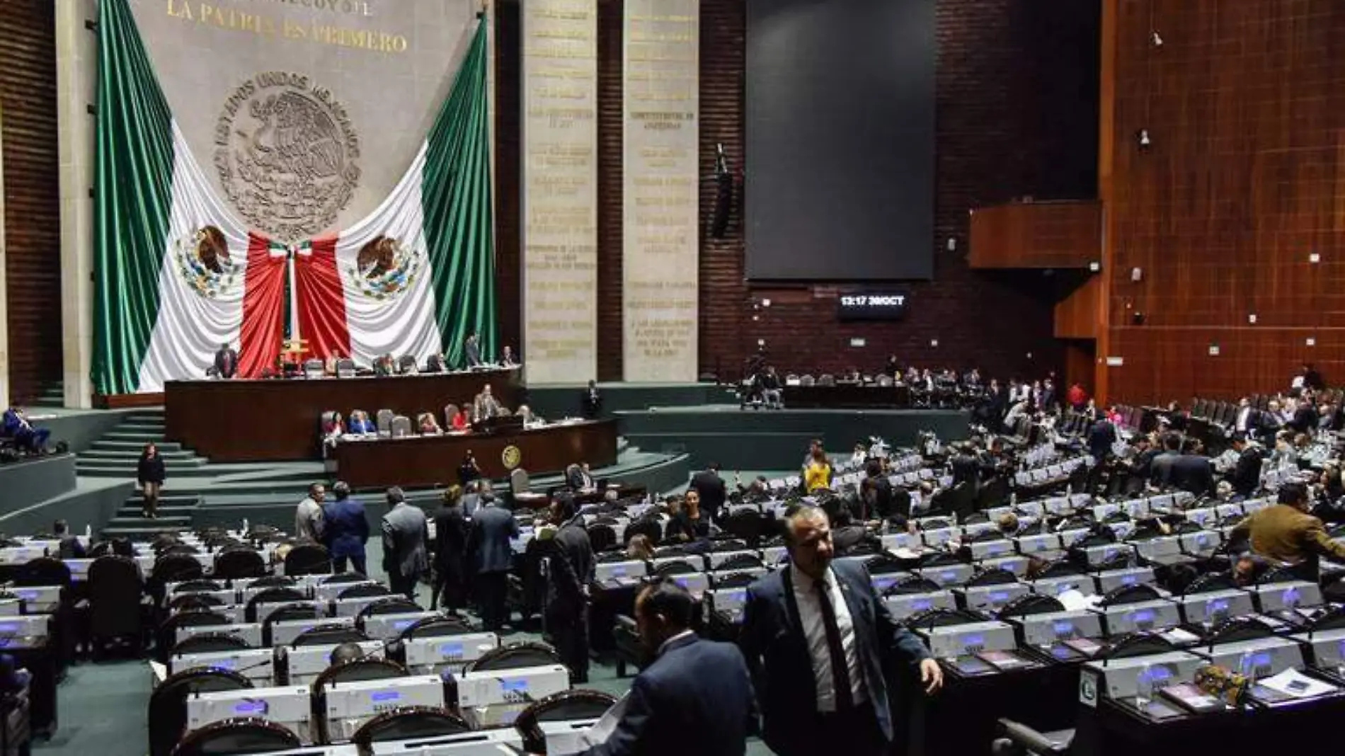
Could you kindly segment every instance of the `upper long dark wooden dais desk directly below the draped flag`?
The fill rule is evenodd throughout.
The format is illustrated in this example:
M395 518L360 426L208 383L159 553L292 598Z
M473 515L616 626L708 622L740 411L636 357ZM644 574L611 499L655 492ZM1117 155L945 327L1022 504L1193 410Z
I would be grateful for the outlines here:
M471 401L491 385L504 406L522 395L518 369L425 373L386 378L285 378L270 381L169 381L164 386L165 437L211 461L280 461L321 455L321 413L343 417L379 409L413 418Z

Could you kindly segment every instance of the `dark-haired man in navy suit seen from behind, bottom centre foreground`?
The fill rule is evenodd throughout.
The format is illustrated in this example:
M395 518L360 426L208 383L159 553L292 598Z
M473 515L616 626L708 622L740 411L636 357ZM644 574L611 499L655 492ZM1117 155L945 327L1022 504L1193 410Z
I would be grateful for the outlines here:
M748 667L732 644L690 630L694 608L671 578L640 592L635 621L655 659L617 704L611 737L581 756L742 756L756 725Z

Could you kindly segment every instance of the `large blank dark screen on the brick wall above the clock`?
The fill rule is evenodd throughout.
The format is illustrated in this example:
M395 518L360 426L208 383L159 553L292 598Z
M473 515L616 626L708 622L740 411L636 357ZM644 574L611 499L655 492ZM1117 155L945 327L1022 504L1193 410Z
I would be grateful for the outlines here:
M746 274L933 274L936 0L748 0Z

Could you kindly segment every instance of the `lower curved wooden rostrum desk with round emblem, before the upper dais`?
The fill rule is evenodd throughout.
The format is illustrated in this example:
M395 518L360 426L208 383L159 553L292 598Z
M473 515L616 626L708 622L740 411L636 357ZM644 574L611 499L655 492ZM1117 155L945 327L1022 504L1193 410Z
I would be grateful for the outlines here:
M408 436L343 441L334 457L340 479L356 488L409 488L457 482L457 467L471 451L486 478L507 478L504 449L518 449L516 467L537 476L586 461L592 467L616 464L616 421L558 422L527 430Z

